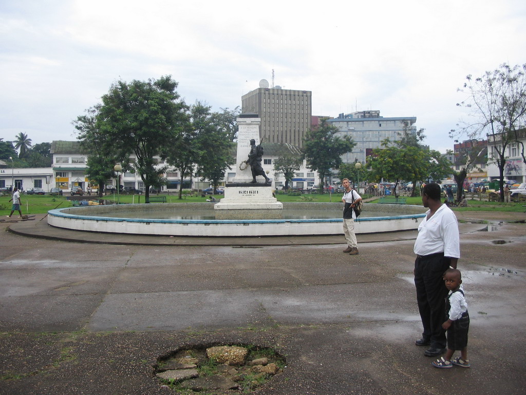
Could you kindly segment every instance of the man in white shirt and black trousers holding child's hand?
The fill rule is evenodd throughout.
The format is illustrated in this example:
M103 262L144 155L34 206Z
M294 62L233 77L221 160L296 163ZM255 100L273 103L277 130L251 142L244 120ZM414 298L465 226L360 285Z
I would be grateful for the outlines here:
M413 251L414 285L422 320L422 338L416 345L429 345L424 351L428 357L436 357L446 351L446 331L442 328L445 298L448 290L443 273L457 268L460 258L458 221L451 209L440 202L440 185L431 183L422 189L422 204L429 208L426 218L418 226Z

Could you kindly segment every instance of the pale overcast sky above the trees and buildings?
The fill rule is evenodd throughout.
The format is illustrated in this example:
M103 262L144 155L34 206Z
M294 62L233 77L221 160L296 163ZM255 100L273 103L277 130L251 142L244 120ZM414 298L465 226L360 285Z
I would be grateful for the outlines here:
M2 0L0 137L75 140L71 122L117 80L172 75L219 111L265 78L312 91L312 114L416 116L452 149L457 88L526 63L524 0Z

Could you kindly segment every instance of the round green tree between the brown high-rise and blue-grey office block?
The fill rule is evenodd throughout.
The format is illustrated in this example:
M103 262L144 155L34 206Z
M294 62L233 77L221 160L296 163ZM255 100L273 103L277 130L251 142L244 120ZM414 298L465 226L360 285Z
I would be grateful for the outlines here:
M336 136L339 130L322 118L316 129L309 130L304 139L304 152L307 166L320 177L320 192L323 193L325 177L331 169L337 169L342 163L341 155L350 152L356 144L350 136Z

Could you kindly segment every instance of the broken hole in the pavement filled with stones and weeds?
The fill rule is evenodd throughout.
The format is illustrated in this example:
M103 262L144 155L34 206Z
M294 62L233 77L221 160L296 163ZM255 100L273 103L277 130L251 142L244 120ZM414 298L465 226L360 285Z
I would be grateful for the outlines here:
M286 360L270 348L255 345L195 345L160 356L154 374L175 392L232 390L250 393L285 368Z

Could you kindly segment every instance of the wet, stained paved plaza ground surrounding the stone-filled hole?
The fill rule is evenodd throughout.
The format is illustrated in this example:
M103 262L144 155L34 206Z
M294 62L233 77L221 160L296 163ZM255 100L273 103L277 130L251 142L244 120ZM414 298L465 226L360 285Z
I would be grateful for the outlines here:
M169 394L156 359L219 343L287 358L258 394L523 394L526 225L512 221L526 214L458 216L471 369L432 368L414 345L415 232L358 235L349 256L342 236L141 242L42 215L0 224L18 232L0 240L0 394Z

